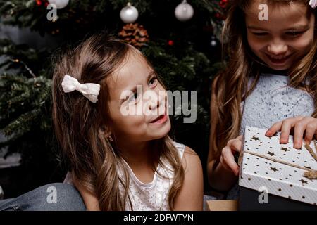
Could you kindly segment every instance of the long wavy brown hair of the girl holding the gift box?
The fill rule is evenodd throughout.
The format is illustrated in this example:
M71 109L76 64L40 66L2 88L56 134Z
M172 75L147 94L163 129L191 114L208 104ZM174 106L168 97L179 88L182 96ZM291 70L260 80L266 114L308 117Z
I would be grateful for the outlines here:
M278 6L298 2L307 6L307 16L316 10L309 6L309 0L267 0L268 3ZM226 69L219 72L213 79L211 90L211 138L209 160L219 160L223 147L230 139L239 135L242 120L240 103L254 90L259 80L263 63L252 53L247 43L247 28L245 12L251 0L228 1L226 20L223 27L223 54L230 60ZM317 117L317 30L314 30L314 41L309 53L299 60L296 65L287 70L290 77L290 86L306 89L315 103L313 117ZM247 89L250 76L254 76L251 87ZM309 84L304 82L309 79Z

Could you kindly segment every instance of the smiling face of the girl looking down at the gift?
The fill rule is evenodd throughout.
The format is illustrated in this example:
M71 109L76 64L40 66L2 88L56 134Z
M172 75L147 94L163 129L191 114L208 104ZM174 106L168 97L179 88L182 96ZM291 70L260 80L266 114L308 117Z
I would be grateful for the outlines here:
M306 6L299 4L268 5L268 20L259 20L259 4L246 12L251 51L273 70L287 70L311 49L315 16L307 18Z

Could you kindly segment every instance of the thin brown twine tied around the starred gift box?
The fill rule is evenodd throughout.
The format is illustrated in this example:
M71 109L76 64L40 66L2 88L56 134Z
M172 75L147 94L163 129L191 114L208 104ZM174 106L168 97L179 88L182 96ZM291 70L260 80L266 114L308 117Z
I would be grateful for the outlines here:
M313 141L313 143L314 143L315 149L317 151L316 141ZM313 152L313 149L311 148L311 146L309 146L308 144L305 144L305 148L309 151L309 153L311 153L311 156L317 161L317 155L316 155L316 153ZM277 160L275 158L268 157L266 155L261 155L261 154L258 154L258 153L252 153L252 152L249 152L248 150L243 150L242 153L240 154L239 160L238 160L238 165L239 166L241 165L244 153L248 153L250 155L255 155L255 156L259 157L259 158L265 158L266 160L271 160L273 162L279 162L281 164L289 165L291 167L297 167L299 169L306 170L306 172L304 172L303 176L305 176L308 179L317 179L317 170L309 169L309 168L306 168L306 167L302 167L302 166L299 166L299 165L296 165L296 164L293 164L293 163L290 163L290 162L285 162L283 160Z

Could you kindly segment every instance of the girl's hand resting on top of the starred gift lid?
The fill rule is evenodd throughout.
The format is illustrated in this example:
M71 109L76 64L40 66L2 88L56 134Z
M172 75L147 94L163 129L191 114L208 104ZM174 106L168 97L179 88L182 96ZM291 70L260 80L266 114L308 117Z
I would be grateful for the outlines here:
M305 132L305 143L309 144L313 136L317 137L317 119L314 117L292 117L281 122L276 122L266 131L266 136L273 136L277 131L281 131L280 143L288 143L290 130L294 128L294 148L302 148Z

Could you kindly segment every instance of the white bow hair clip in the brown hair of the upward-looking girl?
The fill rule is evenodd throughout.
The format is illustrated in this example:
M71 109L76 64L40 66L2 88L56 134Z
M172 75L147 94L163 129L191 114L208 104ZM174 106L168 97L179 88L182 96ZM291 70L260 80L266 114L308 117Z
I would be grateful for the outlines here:
M63 91L65 93L71 91L79 91L83 96L89 99L92 103L97 102L97 96L99 95L100 85L87 83L80 84L75 77L70 77L70 75L65 75L62 82Z

